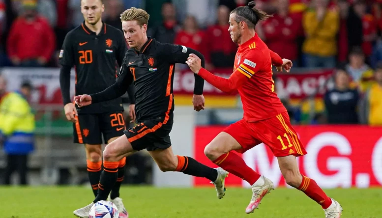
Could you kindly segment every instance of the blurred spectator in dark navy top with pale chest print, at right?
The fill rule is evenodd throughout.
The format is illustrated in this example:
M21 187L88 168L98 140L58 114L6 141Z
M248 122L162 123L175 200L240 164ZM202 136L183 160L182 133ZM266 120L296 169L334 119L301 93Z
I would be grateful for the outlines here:
M359 93L357 89L350 88L348 73L338 69L334 75L334 82L335 87L326 91L324 95L327 122L330 124L358 123L356 111Z

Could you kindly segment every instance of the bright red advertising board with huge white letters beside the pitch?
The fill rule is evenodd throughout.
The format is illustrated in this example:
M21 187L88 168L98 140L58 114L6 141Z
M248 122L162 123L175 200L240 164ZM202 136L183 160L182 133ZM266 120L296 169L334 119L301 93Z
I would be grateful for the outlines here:
M195 159L216 167L204 155L205 146L225 126L197 127L195 130ZM308 154L297 158L300 171L314 179L322 188L368 188L382 185L382 127L369 126L295 126ZM286 186L277 158L264 144L242 154L244 161L275 186ZM204 178L195 178L195 186L209 185ZM230 175L227 186L249 184Z

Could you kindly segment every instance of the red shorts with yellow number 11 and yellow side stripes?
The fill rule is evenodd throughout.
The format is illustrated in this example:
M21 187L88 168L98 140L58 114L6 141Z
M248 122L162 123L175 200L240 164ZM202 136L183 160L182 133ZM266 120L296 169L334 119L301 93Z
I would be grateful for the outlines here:
M239 120L223 130L241 145L239 153L260 143L267 145L276 157L307 154L289 120L288 112L282 112L265 120L248 122Z

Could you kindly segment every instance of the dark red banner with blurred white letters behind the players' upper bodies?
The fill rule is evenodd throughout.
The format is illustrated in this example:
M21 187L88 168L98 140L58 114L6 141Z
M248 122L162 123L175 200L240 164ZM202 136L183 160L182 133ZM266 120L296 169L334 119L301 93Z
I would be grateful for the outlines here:
M231 68L215 69L213 74L229 78L232 74ZM302 99L314 94L319 90L317 97L322 97L326 90L325 82L332 75L332 70L315 70L304 73L287 74L277 73L276 89L278 93L287 93L291 99ZM329 84L330 85L330 84ZM194 73L183 70L174 75L174 93L192 94L194 91ZM226 94L213 87L208 82L204 86L205 95L236 95Z

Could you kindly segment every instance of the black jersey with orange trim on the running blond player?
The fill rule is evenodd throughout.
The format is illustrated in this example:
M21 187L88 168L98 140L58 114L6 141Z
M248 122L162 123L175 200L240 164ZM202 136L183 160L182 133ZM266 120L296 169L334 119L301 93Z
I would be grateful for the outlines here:
M147 119L165 121L174 110L174 66L185 64L189 54L204 56L193 49L163 44L148 38L140 51L129 49L124 57L117 81L103 92L90 95L92 102L117 98L134 82L137 121ZM195 74L194 94L203 94L204 80Z

